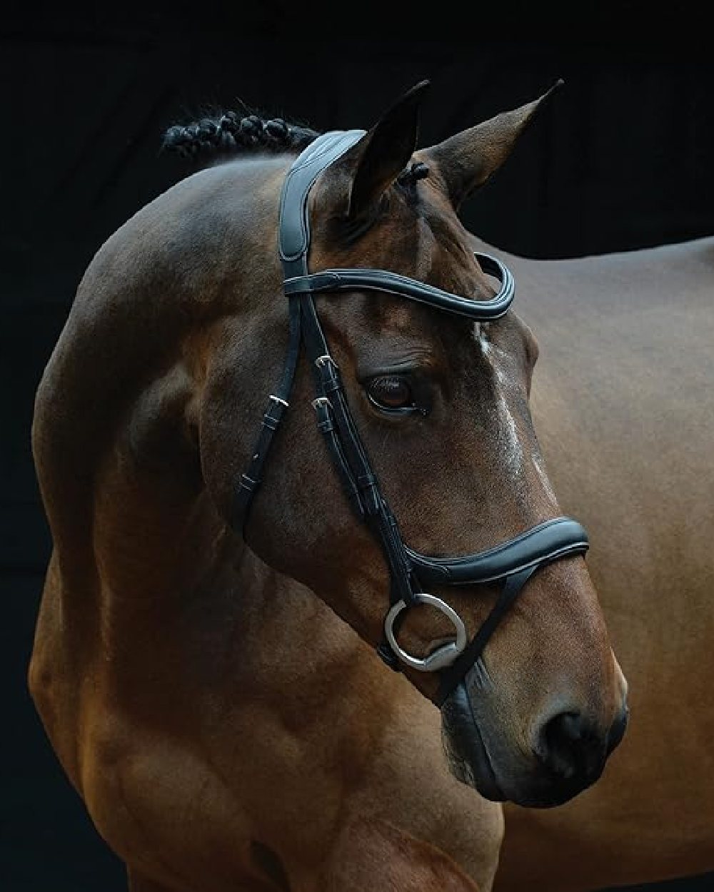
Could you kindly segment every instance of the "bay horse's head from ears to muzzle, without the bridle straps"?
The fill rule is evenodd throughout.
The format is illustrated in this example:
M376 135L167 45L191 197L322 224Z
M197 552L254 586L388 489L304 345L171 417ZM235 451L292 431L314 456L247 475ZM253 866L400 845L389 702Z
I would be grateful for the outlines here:
M487 304L498 290L494 267L469 250L459 206L506 160L550 91L417 150L423 87L348 139L328 164L317 165L303 194L303 219L300 212L295 217L295 226L310 233L303 274L387 270L412 285ZM458 648L454 641L477 635L510 577L466 574L456 586L442 584L444 563L428 572L418 556L444 561L446 555L497 553L503 542L534 529L540 535L560 516L528 408L537 346L516 312L474 320L468 311L404 299L384 282L370 287L355 279L339 293L337 286L312 292L305 286L297 294L303 331L307 300L334 367L325 380L333 390L339 386L340 412L349 418L335 417L336 398L330 401L328 390L321 402L315 399L320 344L312 344L313 353L301 347L289 400L269 402L265 412L271 421L263 426L280 422L280 430L262 464L261 485L244 478L250 508L236 523L241 474L261 451L256 437L265 398L276 393L286 354L295 352L285 256L282 269L278 259L279 196L292 161L281 153L234 161L182 185L187 196L202 195L203 222L187 225L192 250L202 241L196 227L204 230L206 221L224 227L214 258L224 310L193 343L205 485L248 548L309 586L426 697L441 702L445 750L457 776L494 799L563 802L598 778L627 716L626 682L585 548L556 549L550 554L555 559L532 562L519 581L518 600L469 665L461 665L444 697L440 673L423 671L434 654L464 651L464 641ZM376 479L368 486L376 485L377 499L388 506L383 525L392 524L399 542L407 543L403 551L395 547L396 558L385 546L388 530L380 540L364 505L355 510L364 482L357 479L359 467L349 467L355 448L345 443L350 425ZM328 446L329 436L337 439L332 449L323 434ZM359 465L359 455L355 460ZM394 594L394 562L403 555L411 593L424 591L421 569L431 600L410 600L409 587L403 597ZM385 647L390 589L400 615L387 624L392 645ZM453 660L436 662L448 672L444 664Z

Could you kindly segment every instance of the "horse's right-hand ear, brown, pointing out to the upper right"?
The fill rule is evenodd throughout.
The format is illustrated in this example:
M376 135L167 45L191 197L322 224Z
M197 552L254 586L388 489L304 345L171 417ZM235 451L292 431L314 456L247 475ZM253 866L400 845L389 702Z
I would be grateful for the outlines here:
M420 160L436 164L455 209L501 167L519 136L535 118L536 111L543 107L562 83L561 79L557 80L532 103L504 111L419 152Z

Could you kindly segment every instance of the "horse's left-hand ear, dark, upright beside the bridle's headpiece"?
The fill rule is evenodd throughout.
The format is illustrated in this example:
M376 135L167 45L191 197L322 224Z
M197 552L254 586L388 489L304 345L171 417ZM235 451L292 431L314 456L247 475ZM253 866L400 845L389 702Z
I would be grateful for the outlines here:
M422 80L391 106L361 139L336 162L348 171L346 217L369 217L388 186L402 173L417 145L419 104L428 87Z

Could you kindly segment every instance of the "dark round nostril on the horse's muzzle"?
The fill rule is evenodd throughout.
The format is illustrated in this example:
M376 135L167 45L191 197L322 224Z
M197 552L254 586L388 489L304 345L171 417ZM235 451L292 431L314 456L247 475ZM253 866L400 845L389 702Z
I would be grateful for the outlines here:
M587 784L596 780L605 762L607 741L579 713L559 713L541 729L535 755L563 780Z

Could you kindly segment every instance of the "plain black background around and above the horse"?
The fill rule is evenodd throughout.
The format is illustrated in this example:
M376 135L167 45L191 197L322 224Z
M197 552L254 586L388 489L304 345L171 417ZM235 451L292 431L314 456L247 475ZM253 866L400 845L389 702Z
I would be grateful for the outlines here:
M0 22L2 214L0 888L112 892L114 858L26 692L46 523L29 452L37 381L94 252L185 176L162 130L239 101L317 129L369 127L422 78L420 145L565 86L464 208L531 257L714 234L714 67L673 4L17 5ZM673 299L676 296L673 295ZM666 820L666 816L663 816ZM710 879L660 889L703 890ZM655 888L655 887L648 887Z

